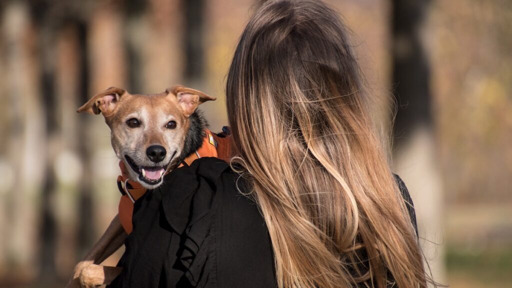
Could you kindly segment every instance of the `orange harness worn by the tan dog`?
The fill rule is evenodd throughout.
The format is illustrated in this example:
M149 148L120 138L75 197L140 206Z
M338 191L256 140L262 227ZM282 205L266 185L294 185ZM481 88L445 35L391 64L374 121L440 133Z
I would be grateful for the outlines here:
M226 135L229 134L225 130ZM221 137L215 133L212 133L208 129L205 129L206 136L203 138L203 144L195 153L188 156L183 160L179 167L183 167L185 164L190 165L194 160L201 157L217 157L224 161L228 161L230 158L231 145L230 137ZM117 187L121 192L121 199L119 200L119 221L121 222L124 231L127 234L132 233L132 216L133 216L133 204L137 199L142 197L146 193L146 189L138 182L129 180L128 173L124 162L119 162L119 168L121 169L121 175L117 176Z

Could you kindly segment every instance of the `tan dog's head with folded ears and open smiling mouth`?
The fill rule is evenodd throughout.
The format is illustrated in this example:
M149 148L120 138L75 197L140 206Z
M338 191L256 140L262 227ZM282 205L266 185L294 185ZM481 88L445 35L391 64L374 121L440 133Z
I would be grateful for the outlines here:
M154 189L183 152L189 116L203 102L215 99L181 85L153 95L132 95L111 87L77 112L103 114L111 129L112 147L130 179Z

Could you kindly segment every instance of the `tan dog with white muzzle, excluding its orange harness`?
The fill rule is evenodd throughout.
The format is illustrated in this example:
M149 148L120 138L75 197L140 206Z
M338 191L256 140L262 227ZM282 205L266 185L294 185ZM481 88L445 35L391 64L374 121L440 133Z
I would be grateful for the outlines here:
M111 87L95 95L77 112L103 114L111 130L112 147L124 162L129 178L147 189L155 189L166 171L201 147L206 121L196 109L215 99L180 85L153 95L132 95ZM93 249L75 266L67 287L110 283L122 268L99 264L119 249L125 238L116 216Z

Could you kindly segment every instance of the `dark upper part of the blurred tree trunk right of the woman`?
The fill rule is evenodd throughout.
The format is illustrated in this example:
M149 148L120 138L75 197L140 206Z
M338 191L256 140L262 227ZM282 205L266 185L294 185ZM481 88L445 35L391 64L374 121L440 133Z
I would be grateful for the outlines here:
M393 85L398 113L393 134L396 146L418 126L432 127L430 64L421 29L431 0L393 0Z

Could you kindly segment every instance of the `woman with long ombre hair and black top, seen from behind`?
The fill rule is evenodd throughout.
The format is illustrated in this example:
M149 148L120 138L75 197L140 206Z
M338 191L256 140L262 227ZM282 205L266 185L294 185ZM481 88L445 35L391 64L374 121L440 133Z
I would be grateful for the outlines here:
M136 202L112 286L426 287L360 81L336 13L263 4L227 77L236 157L198 159Z

